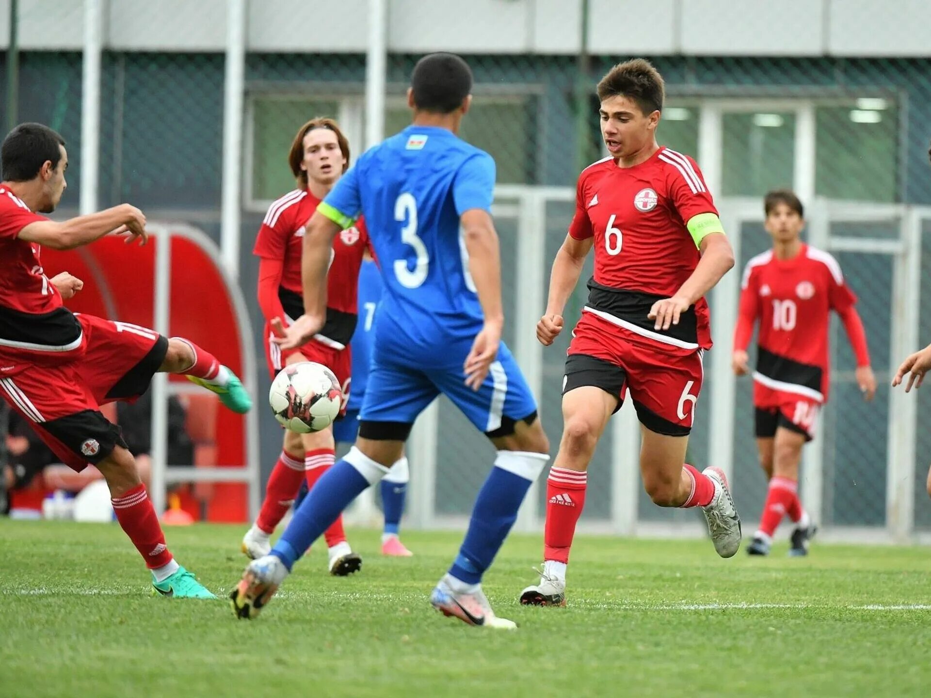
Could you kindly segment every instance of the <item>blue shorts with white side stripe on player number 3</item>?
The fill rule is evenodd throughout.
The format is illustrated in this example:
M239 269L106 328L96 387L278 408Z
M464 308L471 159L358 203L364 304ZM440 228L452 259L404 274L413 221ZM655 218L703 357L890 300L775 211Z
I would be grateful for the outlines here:
M417 356L383 352L376 343L359 419L413 423L440 393L485 434L500 429L503 421L517 422L533 414L536 400L505 342L479 390L466 385L463 363L471 348L471 339L444 346L442 355L449 360L437 367L418 362ZM436 355L430 360L435 362Z

